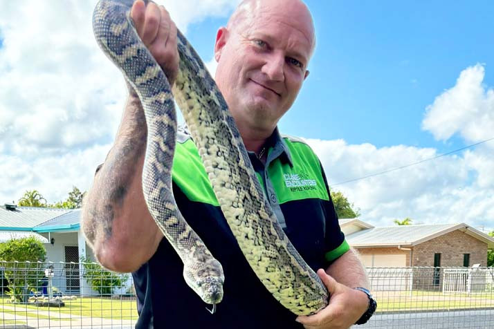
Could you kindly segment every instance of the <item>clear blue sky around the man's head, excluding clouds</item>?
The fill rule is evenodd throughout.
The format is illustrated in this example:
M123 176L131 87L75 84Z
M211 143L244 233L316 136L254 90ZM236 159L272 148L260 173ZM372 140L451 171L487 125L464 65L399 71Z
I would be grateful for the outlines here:
M378 6L376 6L378 3ZM344 138L377 147L408 144L440 153L465 145L434 140L421 129L426 106L452 87L458 74L486 64L494 85L493 1L307 1L318 46L311 75L283 118L285 133ZM224 19L189 26L203 58ZM494 132L493 132L494 137Z

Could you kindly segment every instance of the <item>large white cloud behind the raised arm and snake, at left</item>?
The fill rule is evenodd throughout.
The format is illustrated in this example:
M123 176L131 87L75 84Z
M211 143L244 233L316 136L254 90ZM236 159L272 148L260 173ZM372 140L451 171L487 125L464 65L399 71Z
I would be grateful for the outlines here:
M185 32L238 1L161 1ZM88 189L116 134L126 97L95 43L96 1L19 0L0 10L0 204L39 189L49 202Z

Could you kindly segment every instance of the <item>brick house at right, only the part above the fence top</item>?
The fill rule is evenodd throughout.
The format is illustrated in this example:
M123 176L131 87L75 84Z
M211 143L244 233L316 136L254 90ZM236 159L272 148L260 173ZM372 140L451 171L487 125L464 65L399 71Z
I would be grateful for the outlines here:
M374 227L340 220L347 242L367 267L487 265L494 238L465 223Z

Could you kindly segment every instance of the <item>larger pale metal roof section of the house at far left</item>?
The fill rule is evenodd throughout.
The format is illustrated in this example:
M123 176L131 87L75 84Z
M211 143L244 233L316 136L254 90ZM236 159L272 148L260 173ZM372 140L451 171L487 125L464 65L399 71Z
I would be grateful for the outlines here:
M7 209L0 206L0 230L30 231L36 225L46 222L71 209L53 209L39 207L15 207Z

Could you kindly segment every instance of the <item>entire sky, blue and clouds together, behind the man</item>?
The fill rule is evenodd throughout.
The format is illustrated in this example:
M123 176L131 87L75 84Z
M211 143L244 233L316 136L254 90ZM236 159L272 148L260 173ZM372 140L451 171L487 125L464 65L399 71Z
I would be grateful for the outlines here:
M19 1L0 12L0 203L26 189L55 202L91 186L125 87L93 39L95 0ZM237 1L158 2L211 62ZM307 5L318 44L280 130L308 139L330 185L494 137L494 1ZM493 151L491 141L338 189L370 223L494 228Z

